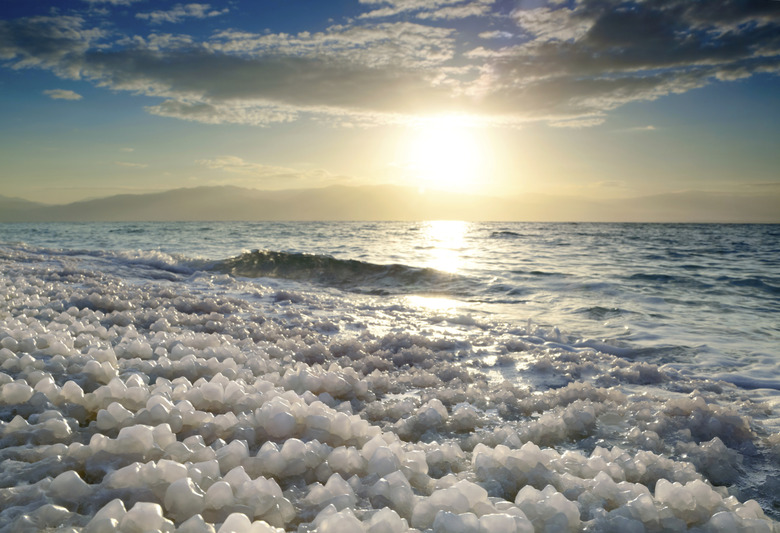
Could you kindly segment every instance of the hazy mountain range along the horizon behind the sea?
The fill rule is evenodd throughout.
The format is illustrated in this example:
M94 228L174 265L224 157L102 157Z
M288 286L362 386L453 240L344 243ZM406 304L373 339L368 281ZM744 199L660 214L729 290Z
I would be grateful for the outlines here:
M436 219L776 223L780 201L774 194L697 191L606 200L536 194L496 198L390 185L280 191L197 187L64 205L0 196L0 222Z

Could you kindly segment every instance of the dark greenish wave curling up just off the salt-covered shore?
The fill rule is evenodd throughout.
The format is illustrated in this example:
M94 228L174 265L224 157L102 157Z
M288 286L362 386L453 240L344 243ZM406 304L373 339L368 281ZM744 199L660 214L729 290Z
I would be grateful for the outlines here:
M370 294L408 291L458 293L468 280L457 274L408 265L382 265L330 255L253 250L214 264L210 270L247 278L310 281Z

